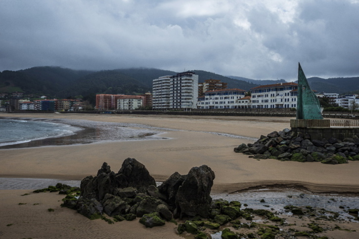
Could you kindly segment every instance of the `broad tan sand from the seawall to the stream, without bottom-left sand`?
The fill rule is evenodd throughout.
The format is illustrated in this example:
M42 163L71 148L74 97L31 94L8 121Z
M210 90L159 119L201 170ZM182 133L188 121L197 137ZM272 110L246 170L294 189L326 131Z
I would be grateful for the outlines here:
M162 128L159 140L105 142L0 150L0 177L81 180L94 175L103 162L117 172L124 159L142 162L158 181L178 171L206 164L216 174L213 191L228 193L259 185L301 185L312 192L359 192L359 161L329 165L274 159L251 159L233 152L250 139L289 128L290 118L122 116L83 114L0 114L1 117L96 120L145 124ZM166 131L176 129L177 131Z

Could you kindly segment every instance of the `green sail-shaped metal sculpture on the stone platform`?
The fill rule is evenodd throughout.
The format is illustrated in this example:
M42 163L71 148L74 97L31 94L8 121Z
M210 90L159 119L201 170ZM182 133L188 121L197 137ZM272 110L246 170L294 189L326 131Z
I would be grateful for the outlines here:
M301 64L298 67L297 120L322 120L320 103L304 75Z

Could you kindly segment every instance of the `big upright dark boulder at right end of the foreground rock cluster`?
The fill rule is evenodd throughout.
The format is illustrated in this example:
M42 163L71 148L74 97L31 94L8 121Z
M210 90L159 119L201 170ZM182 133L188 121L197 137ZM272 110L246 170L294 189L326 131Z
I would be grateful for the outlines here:
M175 215L180 218L185 215L208 218L214 179L215 173L207 165L191 168L178 189Z

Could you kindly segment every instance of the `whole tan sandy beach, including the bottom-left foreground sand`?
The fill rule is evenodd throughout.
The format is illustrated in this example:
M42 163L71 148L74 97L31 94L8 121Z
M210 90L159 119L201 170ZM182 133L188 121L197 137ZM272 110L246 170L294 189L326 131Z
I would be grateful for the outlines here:
M215 193L232 193L261 185L299 185L315 193L359 193L359 161L340 165L282 162L251 159L233 152L241 143L289 128L290 118L4 113L0 117L135 123L161 128L159 131L163 132L156 136L158 140L3 149L0 150L0 177L81 180L95 175L103 162L117 172L124 159L135 158L157 181L166 180L176 171L187 174L191 167L206 164L216 174L212 188ZM29 192L31 190L0 191L0 238L180 238L175 234L177 226L173 223L152 229L135 222L114 227L61 208L60 195L21 196ZM47 208L55 211L48 212ZM6 226L8 224L12 225ZM135 234L131 234L133 230L124 230L128 227L135 227ZM56 235L51 230L57 230Z

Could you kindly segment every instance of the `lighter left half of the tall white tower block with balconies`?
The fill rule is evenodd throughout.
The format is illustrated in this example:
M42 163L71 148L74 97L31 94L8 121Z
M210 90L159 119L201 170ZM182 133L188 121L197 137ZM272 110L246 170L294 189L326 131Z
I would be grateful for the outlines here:
M171 76L164 76L152 81L152 108L170 108Z

